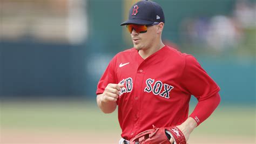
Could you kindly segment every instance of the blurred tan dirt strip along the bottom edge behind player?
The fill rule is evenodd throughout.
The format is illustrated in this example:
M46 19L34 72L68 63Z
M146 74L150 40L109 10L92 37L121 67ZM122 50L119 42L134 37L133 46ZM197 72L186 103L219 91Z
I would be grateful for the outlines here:
M1 129L1 144L43 144L43 143L118 143L120 136L118 132L57 132L57 131L33 131L33 130L10 130ZM193 136L191 135L190 144L196 143L255 143L255 138L237 136Z

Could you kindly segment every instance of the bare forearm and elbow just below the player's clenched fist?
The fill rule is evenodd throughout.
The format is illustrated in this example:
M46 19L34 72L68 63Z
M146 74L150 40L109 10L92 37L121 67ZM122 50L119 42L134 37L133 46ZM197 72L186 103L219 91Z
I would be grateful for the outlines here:
M98 107L104 113L112 113L117 108L117 103L115 101L104 101L102 100L103 94L97 95L97 104Z

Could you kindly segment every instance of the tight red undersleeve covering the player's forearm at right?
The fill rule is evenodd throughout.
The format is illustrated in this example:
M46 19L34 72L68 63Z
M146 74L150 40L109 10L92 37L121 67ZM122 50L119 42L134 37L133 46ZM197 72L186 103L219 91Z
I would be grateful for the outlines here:
M205 121L217 108L220 103L219 93L214 94L212 97L199 101L190 117L197 121L197 124Z

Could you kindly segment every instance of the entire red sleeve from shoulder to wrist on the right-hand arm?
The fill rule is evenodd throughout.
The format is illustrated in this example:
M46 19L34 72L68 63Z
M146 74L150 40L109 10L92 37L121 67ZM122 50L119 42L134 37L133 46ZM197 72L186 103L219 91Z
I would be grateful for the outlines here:
M198 104L190 117L200 125L219 105L218 92L220 88L203 70L196 58L190 55L186 56L181 85L187 93L194 95L198 100Z

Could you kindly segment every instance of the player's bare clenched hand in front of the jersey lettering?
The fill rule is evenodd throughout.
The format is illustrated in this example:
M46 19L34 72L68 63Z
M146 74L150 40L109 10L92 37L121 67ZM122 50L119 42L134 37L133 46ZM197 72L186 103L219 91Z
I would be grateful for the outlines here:
M119 91L124 85L121 84L108 84L103 92L102 101L117 101L119 97Z

